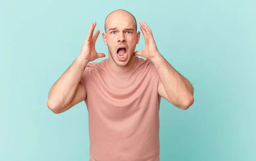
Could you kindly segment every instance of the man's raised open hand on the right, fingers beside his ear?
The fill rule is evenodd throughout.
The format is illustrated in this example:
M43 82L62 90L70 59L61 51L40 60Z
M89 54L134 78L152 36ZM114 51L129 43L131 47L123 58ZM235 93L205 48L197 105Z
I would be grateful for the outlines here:
M154 41L152 31L145 22L140 22L140 30L145 38L145 47L142 51L136 51L134 56L139 55L145 57L146 59L153 59L159 54L159 51Z

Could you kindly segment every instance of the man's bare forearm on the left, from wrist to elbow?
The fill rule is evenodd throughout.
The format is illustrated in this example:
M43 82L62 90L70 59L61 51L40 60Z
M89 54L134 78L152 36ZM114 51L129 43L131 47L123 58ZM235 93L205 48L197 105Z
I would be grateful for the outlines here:
M61 108L69 105L78 87L81 76L88 61L80 55L61 75L49 91L47 105L52 108Z

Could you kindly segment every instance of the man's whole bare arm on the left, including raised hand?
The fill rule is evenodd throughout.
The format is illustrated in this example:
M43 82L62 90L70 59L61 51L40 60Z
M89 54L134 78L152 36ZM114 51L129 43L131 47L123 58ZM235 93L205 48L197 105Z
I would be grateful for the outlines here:
M99 36L99 30L93 36L95 26L96 22L90 24L81 53L49 91L47 107L54 113L62 113L86 98L85 87L82 88L79 85L83 73L86 72L85 67L89 62L105 57L104 53L98 53L95 50L95 42Z

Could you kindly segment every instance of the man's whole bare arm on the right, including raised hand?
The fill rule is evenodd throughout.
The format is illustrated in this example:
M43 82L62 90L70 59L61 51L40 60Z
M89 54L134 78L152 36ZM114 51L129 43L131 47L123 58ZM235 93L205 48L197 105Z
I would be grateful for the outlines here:
M142 51L136 51L134 56L143 56L150 59L157 69L161 82L158 85L160 96L183 110L188 109L194 103L193 87L189 81L181 76L163 58L157 49L151 29L145 22L140 22L140 29L145 38L145 47Z

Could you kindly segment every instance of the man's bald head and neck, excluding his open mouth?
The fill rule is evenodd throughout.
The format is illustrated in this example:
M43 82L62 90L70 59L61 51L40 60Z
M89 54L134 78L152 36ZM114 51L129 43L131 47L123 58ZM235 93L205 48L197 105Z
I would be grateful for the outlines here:
M117 10L106 18L106 31L102 33L105 45L108 45L108 66L113 71L126 71L135 62L134 51L140 40L140 31L136 32L136 23L131 14ZM127 59L117 58L117 48L127 48Z

